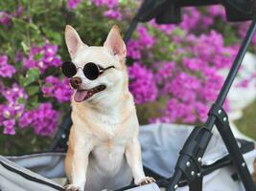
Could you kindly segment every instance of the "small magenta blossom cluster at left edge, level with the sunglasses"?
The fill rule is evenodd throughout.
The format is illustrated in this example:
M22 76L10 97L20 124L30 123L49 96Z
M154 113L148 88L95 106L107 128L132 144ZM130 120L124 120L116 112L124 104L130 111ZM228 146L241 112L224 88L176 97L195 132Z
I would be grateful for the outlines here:
M7 55L0 55L0 76L12 77L16 73L16 69L8 63Z

